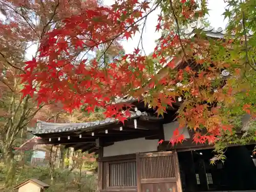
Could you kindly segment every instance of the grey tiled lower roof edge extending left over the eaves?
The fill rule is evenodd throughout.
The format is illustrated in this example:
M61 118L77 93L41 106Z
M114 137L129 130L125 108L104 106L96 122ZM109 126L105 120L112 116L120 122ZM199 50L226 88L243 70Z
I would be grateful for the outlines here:
M131 111L131 117L127 118L137 118L140 116L147 116L146 112ZM96 120L92 122L84 123L49 123L44 121L38 121L36 130L32 131L35 135L49 134L49 133L63 133L63 132L75 132L75 131L92 131L98 127L118 123L118 119L106 118L104 120Z

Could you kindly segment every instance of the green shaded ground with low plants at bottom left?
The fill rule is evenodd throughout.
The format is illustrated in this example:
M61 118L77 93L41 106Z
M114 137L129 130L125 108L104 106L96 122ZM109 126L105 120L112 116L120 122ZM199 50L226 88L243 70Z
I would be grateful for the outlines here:
M79 172L73 171L72 173L69 173L68 169L56 169L54 174L54 182L53 184L51 184L49 173L49 168L46 167L20 167L15 174L13 187L25 181L26 179L35 178L50 185L49 189L47 189L46 192L75 192L79 191L79 188L81 189L81 191L84 192L94 192L96 190L97 180L95 174L84 173L80 177ZM0 164L0 191L14 192L15 190L13 190L13 187L9 189L3 188L5 176L5 166L3 164ZM78 182L79 179L80 182Z

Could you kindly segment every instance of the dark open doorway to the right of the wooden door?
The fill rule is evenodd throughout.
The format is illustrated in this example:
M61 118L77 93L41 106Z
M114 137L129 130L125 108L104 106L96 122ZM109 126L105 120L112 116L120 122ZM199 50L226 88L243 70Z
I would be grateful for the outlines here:
M253 147L228 147L225 162L215 164L210 164L212 150L178 152L183 192L256 190Z

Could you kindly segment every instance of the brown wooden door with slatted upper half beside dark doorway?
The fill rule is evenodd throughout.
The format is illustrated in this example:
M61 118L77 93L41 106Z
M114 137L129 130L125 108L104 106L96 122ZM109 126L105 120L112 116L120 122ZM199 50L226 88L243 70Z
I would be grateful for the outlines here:
M182 192L177 152L137 154L138 192Z

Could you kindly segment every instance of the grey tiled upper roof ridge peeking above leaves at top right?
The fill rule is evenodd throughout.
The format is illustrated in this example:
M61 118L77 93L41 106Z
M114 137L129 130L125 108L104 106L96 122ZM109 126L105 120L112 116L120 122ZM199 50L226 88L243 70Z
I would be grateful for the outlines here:
M224 38L224 35L226 34L225 29L222 29L221 27L219 27L218 29L215 29L212 26L205 27L204 24L202 24L201 21L198 20L198 22L191 23L190 25L187 26L187 28L184 31L186 37L189 38L194 36L196 34L195 29L201 29L206 33L206 36L214 37L214 38ZM248 36L252 36L252 35L253 35L253 32L249 31Z

